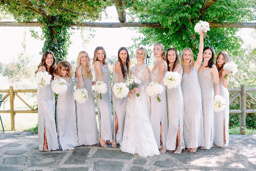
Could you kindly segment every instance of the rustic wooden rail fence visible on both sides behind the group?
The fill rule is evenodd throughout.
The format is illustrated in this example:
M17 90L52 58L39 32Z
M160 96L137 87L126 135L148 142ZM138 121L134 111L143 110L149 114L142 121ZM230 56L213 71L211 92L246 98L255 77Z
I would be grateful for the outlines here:
M250 97L254 102L256 98L253 97L250 92L256 92L256 89L247 89L246 85L241 85L240 89L228 89L229 93L237 93L230 99L230 104L240 96L240 110L230 110L230 113L240 113L240 134L246 134L246 114L256 113L256 109L246 109L246 96ZM0 110L0 113L10 113L10 128L11 131L15 130L15 114L16 113L37 113L36 109L33 109L28 105L18 93L36 93L36 89L25 89L25 90L13 90L10 86L8 90L0 90L0 93L7 93L2 100L5 100L8 96L10 97L10 110ZM14 109L14 97L17 96L30 110L15 110Z

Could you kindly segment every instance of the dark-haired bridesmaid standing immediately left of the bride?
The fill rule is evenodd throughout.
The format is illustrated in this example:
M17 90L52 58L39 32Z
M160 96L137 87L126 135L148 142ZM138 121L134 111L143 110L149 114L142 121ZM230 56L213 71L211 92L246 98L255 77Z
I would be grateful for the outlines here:
M125 82L129 75L129 65L130 58L126 47L120 47L118 50L118 61L115 62L113 67L113 86L115 83ZM127 97L122 99L117 99L114 94L112 94L113 102L113 137L112 137L112 147L116 148L116 134L119 134L119 143L122 142L123 137L123 124L125 109L127 103Z

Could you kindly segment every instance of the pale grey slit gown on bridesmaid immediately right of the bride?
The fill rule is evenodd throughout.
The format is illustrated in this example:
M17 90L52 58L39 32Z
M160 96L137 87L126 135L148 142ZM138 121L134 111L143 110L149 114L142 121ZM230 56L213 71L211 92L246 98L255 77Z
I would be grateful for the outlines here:
M163 60L164 61L164 60ZM164 61L165 62L165 61ZM167 72L167 63L165 62L165 72ZM151 72L152 81L158 81L159 68L154 72ZM157 101L157 97L151 97L151 124L153 128L153 132L155 135L155 139L157 142L158 148L160 148L160 122L162 124L162 141L163 148L166 147L166 138L168 133L168 117L167 117L167 105L166 105L166 87L164 86L164 91L159 95L161 102Z

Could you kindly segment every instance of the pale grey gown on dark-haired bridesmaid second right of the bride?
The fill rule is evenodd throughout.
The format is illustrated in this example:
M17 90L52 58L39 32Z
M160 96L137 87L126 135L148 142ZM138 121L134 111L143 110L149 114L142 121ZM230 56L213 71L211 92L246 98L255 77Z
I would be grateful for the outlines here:
M182 78L182 71L181 71ZM168 134L166 141L167 150L176 149L178 126L180 126L181 149L185 148L183 139L183 95L181 83L176 88L166 88L167 113L168 113Z

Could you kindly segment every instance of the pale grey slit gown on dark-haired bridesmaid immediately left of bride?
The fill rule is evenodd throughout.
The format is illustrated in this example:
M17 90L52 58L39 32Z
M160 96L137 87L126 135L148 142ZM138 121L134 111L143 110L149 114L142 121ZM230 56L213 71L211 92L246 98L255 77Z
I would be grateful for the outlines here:
M126 72L127 77L127 72ZM122 77L122 82L125 82L125 79ZM115 72L115 65L113 66L113 85L114 87L115 83L118 83L118 73ZM124 97L122 99L116 98L114 94L112 94L112 102L113 102L113 137L112 141L115 142L115 122L116 122L116 115L118 120L118 135L119 135L119 143L122 142L123 137L123 127L124 127L124 117L125 117L125 109L126 109L126 103L127 98Z

